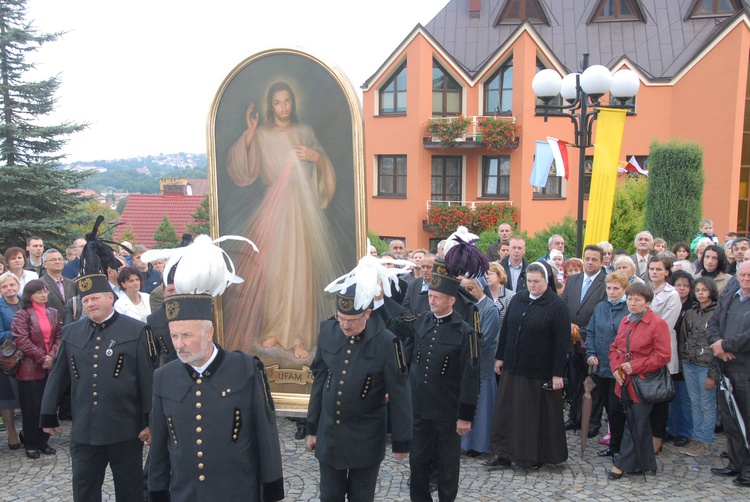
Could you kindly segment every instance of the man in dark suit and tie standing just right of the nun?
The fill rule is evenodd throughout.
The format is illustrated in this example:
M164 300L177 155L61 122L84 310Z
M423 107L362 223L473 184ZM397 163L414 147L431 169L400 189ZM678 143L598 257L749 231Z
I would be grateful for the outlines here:
M575 343L570 358L570 414L565 422L566 430L581 427L581 407L583 404L583 381L588 372L586 351L581 342L585 341L586 326L594 313L594 308L607 296L605 273L602 270L604 252L600 247L590 244L583 249L583 272L568 277L568 282L561 296L570 313L571 336ZM588 435L593 437L601 427L601 410L599 417L593 417Z

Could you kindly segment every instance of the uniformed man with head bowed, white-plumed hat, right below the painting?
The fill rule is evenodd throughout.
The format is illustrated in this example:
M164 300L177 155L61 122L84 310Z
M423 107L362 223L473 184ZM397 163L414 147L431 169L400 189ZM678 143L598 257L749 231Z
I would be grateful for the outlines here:
M409 456L411 392L401 342L368 306L355 307L356 285L336 293L336 319L320 324L312 364L307 445L320 461L320 500L372 501L386 446L386 395L393 452Z

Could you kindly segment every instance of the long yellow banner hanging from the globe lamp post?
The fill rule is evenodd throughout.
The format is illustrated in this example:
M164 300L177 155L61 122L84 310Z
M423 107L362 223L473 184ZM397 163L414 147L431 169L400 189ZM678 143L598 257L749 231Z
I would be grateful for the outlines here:
M584 246L609 240L626 114L616 108L599 110Z

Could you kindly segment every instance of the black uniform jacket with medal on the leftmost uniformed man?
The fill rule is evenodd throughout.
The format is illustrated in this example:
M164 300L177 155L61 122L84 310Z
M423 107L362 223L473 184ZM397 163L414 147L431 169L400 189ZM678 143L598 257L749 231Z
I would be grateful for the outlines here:
M117 312L101 324L63 326L44 389L41 426L57 427L57 403L71 386L76 443L107 445L138 437L148 425L153 369L148 326Z

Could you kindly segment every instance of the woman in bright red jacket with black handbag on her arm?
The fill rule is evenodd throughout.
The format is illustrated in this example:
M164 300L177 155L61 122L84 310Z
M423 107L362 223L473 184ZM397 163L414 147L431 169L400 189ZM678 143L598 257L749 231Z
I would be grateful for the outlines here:
M630 407L630 413L626 413L620 454L613 458L614 467L607 473L610 479L620 479L623 472L656 472L649 422L653 405L638 400L631 381L644 373L658 370L671 357L669 326L649 308L654 299L651 288L634 282L628 286L625 294L630 314L620 323L617 337L609 349L609 361L617 380L615 393L623 400L626 410Z

